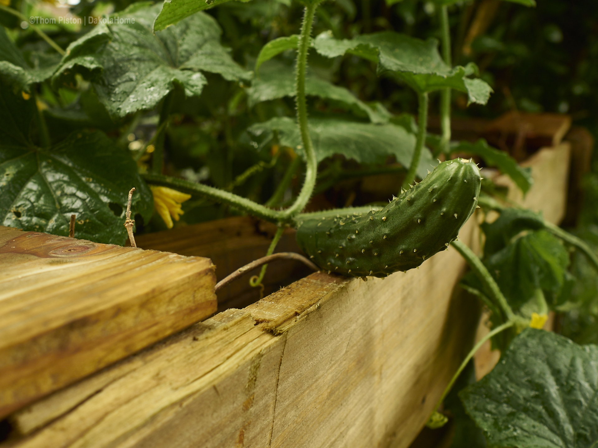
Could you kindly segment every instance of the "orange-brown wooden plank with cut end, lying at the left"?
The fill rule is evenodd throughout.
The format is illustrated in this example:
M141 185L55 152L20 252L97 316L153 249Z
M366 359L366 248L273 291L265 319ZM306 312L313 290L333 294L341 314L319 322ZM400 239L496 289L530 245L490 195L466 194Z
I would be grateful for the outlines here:
M209 259L0 227L0 416L216 309Z

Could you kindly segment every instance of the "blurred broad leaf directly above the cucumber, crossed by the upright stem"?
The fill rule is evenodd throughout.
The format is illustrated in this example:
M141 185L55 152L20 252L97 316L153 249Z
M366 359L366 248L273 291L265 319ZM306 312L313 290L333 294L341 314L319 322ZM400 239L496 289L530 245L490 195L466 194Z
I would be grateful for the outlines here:
M404 167L408 167L415 148L415 136L394 124L371 124L336 119L310 119L310 136L318 162L334 154L369 164L383 164L389 155ZM249 131L256 135L277 131L280 144L290 146L304 157L297 122L288 117L276 117L264 123L254 124ZM425 177L427 170L437 162L424 148L417 174Z

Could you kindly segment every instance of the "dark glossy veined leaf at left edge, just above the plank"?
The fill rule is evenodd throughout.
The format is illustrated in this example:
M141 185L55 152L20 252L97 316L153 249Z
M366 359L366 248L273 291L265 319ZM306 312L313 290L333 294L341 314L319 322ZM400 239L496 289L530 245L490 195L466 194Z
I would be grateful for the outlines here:
M34 114L33 99L0 85L0 223L68 235L76 214L77 238L124 244L129 189L137 190L134 214L147 222L153 208L133 159L100 131L78 131L40 149L29 137Z

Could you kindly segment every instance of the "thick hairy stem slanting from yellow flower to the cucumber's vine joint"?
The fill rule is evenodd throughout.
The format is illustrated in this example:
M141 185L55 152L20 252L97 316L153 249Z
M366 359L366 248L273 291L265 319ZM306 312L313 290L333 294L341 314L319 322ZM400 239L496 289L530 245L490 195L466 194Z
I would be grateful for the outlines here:
M178 179L177 177L164 176L163 174L147 173L142 174L142 176L148 183L170 186L190 194L199 194L212 201L231 205L231 207L235 207L269 222L278 223L281 220L280 211L264 207L264 205L257 204L252 200L219 188L203 185L203 183L189 182L188 180Z

